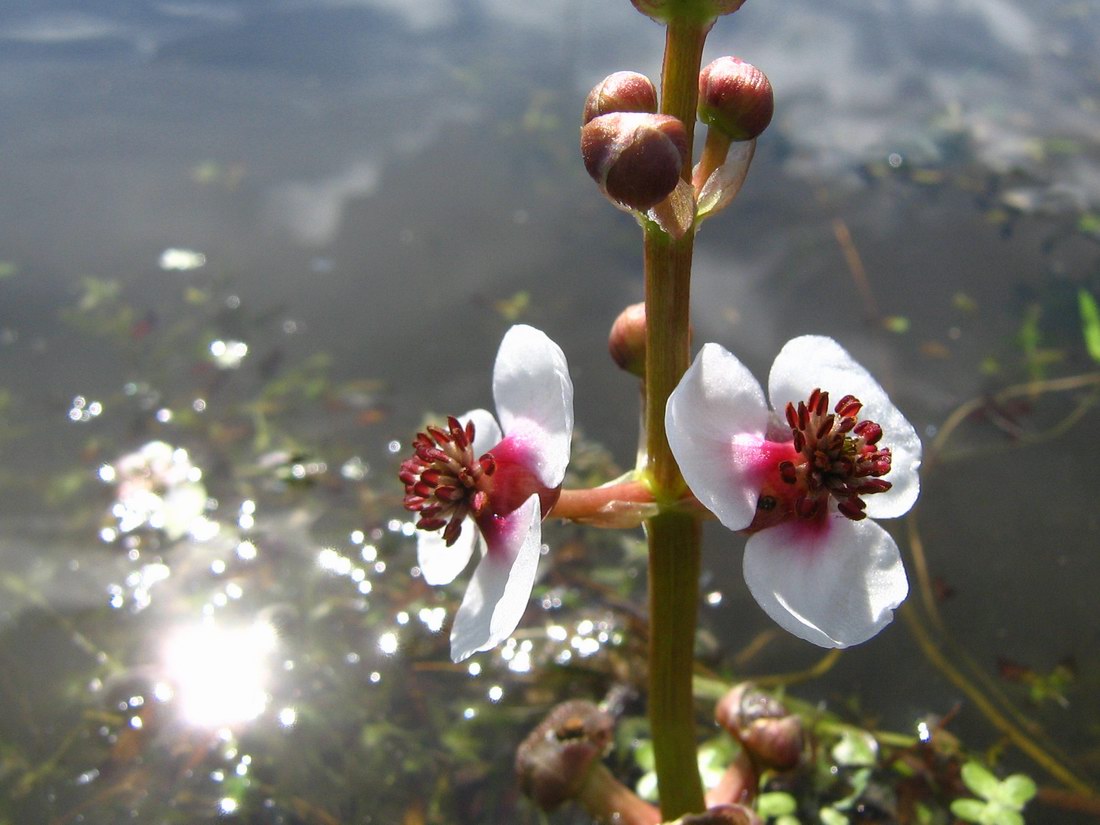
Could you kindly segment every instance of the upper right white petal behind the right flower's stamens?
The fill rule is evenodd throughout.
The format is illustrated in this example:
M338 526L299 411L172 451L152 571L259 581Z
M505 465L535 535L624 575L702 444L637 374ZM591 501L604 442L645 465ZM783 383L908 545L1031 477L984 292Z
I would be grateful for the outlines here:
M883 480L893 486L864 498L867 515L894 518L908 513L921 492L921 439L913 425L882 385L832 338L802 336L789 341L776 356L768 377L772 407L782 414L788 403L804 402L818 387L829 394L834 404L846 395L859 398L864 405L860 420L877 422L883 433L881 446L890 448L890 472Z

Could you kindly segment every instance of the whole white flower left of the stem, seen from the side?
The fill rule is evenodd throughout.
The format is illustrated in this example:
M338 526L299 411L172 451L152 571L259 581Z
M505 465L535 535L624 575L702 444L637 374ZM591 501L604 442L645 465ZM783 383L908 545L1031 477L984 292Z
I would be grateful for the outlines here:
M565 356L532 327L513 327L501 342L493 397L499 426L474 409L446 428L429 427L400 471L405 506L420 514L425 581L450 583L480 551L451 628L457 662L495 647L519 624L535 584L542 518L561 491L573 435Z

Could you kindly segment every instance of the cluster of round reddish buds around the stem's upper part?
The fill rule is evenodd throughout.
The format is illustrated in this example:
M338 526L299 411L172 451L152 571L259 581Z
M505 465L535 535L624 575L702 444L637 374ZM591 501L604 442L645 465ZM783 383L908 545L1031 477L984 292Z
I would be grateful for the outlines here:
M730 4L735 8L729 11L740 6ZM757 135L771 122L774 108L765 74L736 57L721 57L704 68L698 92L697 117L707 134L690 180L688 129L676 118L658 113L657 91L647 77L616 72L593 88L584 103L581 156L601 191L620 209L676 238L734 199Z

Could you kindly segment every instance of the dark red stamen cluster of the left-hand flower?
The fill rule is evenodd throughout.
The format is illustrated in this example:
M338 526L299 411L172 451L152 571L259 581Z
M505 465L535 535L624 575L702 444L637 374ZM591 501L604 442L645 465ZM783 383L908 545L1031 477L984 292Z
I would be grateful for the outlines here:
M453 544L468 515L477 516L490 501L488 479L496 470L492 453L474 457L474 425L463 427L448 417L447 428L427 427L413 440L414 455L402 462L405 509L419 513L421 530L443 528L443 541Z

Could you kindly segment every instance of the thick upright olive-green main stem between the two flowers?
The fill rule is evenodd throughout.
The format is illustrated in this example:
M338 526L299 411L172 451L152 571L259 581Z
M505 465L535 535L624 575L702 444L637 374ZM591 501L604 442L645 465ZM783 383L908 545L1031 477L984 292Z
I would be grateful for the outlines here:
M661 77L661 111L694 131L698 70L711 23L669 24ZM691 179L691 158L683 177ZM664 406L691 359L689 305L694 230L672 239L645 229L646 471L658 505L646 521L649 540L649 719L661 814L674 820L704 809L695 749L692 696L698 608L700 520L670 509L685 491L664 433Z

